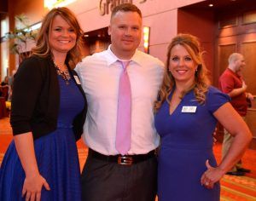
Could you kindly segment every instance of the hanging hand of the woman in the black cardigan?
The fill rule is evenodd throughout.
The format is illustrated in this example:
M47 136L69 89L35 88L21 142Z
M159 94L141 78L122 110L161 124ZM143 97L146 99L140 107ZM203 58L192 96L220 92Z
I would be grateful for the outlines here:
M49 184L42 175L26 176L22 189L22 197L26 195L26 201L40 201L43 186L46 190L50 190Z

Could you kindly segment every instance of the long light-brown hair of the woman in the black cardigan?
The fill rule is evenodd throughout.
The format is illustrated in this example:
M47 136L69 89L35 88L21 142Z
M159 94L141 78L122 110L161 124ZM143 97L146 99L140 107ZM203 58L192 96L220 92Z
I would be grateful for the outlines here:
M82 55L80 54L81 40L83 32L79 26L79 21L76 19L75 15L70 9L65 7L51 9L48 14L44 16L42 26L38 32L36 47L32 49L32 55L38 55L40 57L52 56L52 52L49 46L49 34L50 28L52 26L52 21L56 15L60 15L67 23L72 26L74 32L76 33L77 39L76 44L73 49L70 49L67 53L66 62L71 68L74 68L76 64L82 60Z

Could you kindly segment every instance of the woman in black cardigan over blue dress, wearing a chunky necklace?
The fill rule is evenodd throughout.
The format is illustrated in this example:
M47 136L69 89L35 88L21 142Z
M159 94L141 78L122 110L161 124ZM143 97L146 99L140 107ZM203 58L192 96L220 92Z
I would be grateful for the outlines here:
M72 70L82 31L67 8L49 11L32 56L15 74L10 123L14 141L3 158L0 200L81 200L76 140L87 103Z

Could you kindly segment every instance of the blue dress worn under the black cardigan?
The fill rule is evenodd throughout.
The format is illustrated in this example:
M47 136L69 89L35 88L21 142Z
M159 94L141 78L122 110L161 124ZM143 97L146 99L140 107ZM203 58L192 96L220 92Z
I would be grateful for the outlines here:
M84 97L73 79L69 84L58 76L61 104L57 129L34 141L40 174L49 183L50 191L42 188L41 200L81 200L79 156L73 134L73 118L84 108ZM9 145L0 169L0 200L19 201L25 172L15 149Z

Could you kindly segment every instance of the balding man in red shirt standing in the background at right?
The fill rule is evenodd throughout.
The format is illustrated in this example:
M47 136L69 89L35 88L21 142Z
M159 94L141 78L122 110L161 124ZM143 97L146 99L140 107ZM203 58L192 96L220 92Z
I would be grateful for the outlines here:
M245 120L247 115L247 100L253 100L253 95L247 92L247 84L241 77L242 69L246 66L243 55L233 53L229 57L229 66L223 72L218 80L219 89L225 94L229 95L231 105L235 108ZM230 135L227 129L224 129L224 140L222 146L222 158L229 152L230 145L234 141L234 137ZM245 175L249 173L250 169L242 167L241 160L239 160L229 171L227 175Z

